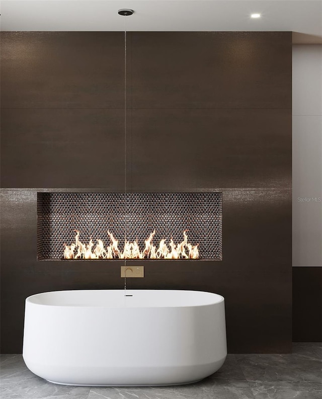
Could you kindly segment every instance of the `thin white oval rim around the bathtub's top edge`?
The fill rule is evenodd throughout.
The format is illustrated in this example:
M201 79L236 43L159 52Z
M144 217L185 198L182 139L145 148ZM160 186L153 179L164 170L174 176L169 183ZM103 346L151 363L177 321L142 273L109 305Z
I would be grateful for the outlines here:
M81 292L81 291L117 291L121 292L124 291L124 289L73 289L73 290L57 290L57 291L46 291L46 292L39 292L37 294L30 295L26 298L25 303L35 305L35 306L49 306L49 307L59 307L59 308L106 308L106 309L164 309L164 308L191 308L191 307L202 307L202 306L212 306L212 305L219 305L220 303L225 301L225 298L217 293L214 292L209 292L209 291L196 291L196 290L172 290L172 289L127 289L127 292L132 292L132 291L171 291L171 292L191 292L191 293L206 293L206 294L211 294L215 295L217 297L217 301L213 301L211 303L200 303L200 304L193 304L193 305L164 305L164 306L100 306L100 305L86 305L86 304L70 304L70 305L62 305L62 304L50 304L50 303L39 303L39 302L34 302L32 299L37 296L45 295L45 294L51 294L51 293L60 293L60 292Z

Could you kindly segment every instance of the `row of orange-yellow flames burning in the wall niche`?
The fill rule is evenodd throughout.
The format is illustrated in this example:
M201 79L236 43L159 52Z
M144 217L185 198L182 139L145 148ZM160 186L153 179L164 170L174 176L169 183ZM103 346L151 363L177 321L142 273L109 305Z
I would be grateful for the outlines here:
M184 239L178 245L174 243L173 237L171 237L170 249L166 244L167 238L162 238L158 244L158 249L156 249L156 246L152 244L155 235L155 230L153 230L145 240L143 251L140 251L137 240L134 240L133 243L126 241L123 251L120 251L118 249L119 241L109 230L107 231L110 237L109 246L105 248L103 241L98 239L98 244L93 250L92 237L89 244L86 245L79 241L79 230L74 231L76 232L75 242L70 246L63 244L65 247L64 259L199 259L199 244L188 243L188 230L183 231ZM74 250L77 250L76 254L74 254Z

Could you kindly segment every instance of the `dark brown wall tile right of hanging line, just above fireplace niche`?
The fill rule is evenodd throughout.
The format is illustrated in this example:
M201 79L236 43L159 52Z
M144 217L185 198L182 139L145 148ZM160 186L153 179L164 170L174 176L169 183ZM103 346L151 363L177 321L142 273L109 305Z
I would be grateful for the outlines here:
M290 187L291 111L134 109L133 190Z

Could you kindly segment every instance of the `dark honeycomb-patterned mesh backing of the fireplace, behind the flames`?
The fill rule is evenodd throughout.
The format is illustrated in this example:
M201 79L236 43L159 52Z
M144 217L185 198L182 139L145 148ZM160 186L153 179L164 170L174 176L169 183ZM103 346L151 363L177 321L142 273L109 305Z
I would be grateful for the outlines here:
M62 259L63 244L79 240L88 244L97 238L110 244L107 230L124 247L125 218L127 239L144 240L155 229L153 244L171 236L175 244L183 240L199 244L199 260L221 260L221 193L38 193L37 259ZM125 210L126 204L126 210Z

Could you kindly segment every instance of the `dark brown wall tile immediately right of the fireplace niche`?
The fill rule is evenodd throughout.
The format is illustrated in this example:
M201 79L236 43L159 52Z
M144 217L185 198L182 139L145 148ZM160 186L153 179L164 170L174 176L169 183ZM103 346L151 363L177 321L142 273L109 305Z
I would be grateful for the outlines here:
M223 192L223 270L290 272L290 190Z

